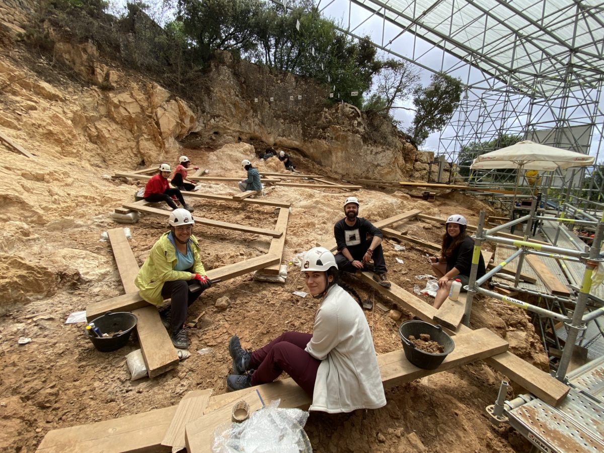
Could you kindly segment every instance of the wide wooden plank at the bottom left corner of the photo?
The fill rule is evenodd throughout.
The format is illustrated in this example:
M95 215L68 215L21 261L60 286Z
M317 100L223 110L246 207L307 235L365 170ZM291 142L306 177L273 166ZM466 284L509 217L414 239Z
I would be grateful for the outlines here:
M156 409L118 419L47 432L37 448L39 453L81 453L83 451L169 452L162 448L165 431L177 406Z

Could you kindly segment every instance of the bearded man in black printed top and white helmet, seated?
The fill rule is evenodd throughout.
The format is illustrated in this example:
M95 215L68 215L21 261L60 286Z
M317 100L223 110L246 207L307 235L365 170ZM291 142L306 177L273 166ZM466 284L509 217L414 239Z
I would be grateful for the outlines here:
M358 217L359 201L356 197L346 199L344 214L344 219L333 226L333 235L338 245L338 269L353 274L359 270L373 272L373 280L384 288L390 288L382 250L384 234L369 220Z

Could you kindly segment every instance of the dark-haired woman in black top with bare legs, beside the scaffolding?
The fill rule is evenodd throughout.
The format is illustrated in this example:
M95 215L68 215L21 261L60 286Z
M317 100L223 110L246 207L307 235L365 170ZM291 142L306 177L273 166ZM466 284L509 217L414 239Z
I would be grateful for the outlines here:
M442 249L439 256L428 257L432 269L439 277L439 289L434 298L434 308L439 309L446 300L451 290L451 284L456 278L461 280L461 291L470 281L472 267L472 252L474 252L474 239L467 236L467 220L460 214L449 216L445 222ZM476 278L486 274L483 255L478 258L478 272Z

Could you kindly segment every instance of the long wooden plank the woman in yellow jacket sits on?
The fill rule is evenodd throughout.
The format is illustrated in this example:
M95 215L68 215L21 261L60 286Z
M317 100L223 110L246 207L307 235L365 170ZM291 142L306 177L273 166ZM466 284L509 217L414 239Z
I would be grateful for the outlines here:
M280 256L266 254L243 260L239 263L233 263L220 268L210 269L209 271L206 271L206 273L210 280L216 280L219 278L222 281L226 281L230 280L231 278L239 277L239 275L248 274L248 272L257 271L257 269L262 269L266 266L277 264L280 261ZM191 291L196 291L196 289L199 289L200 287L195 283L192 284L190 288ZM138 292L131 292L118 297L89 304L89 306L86 307L86 319L91 321L97 316L104 315L104 313L109 311L132 311L141 307L155 308L155 306L144 301Z

